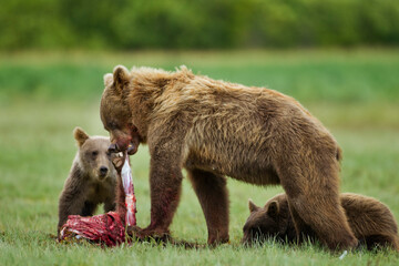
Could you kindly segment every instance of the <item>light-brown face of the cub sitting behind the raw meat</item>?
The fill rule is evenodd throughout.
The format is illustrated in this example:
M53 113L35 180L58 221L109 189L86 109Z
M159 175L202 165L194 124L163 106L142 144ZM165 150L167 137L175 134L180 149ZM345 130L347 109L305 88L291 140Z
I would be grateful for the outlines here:
M99 181L114 178L116 172L111 162L113 155L109 152L110 140L105 136L89 136L79 127L74 130L74 137L84 171Z

